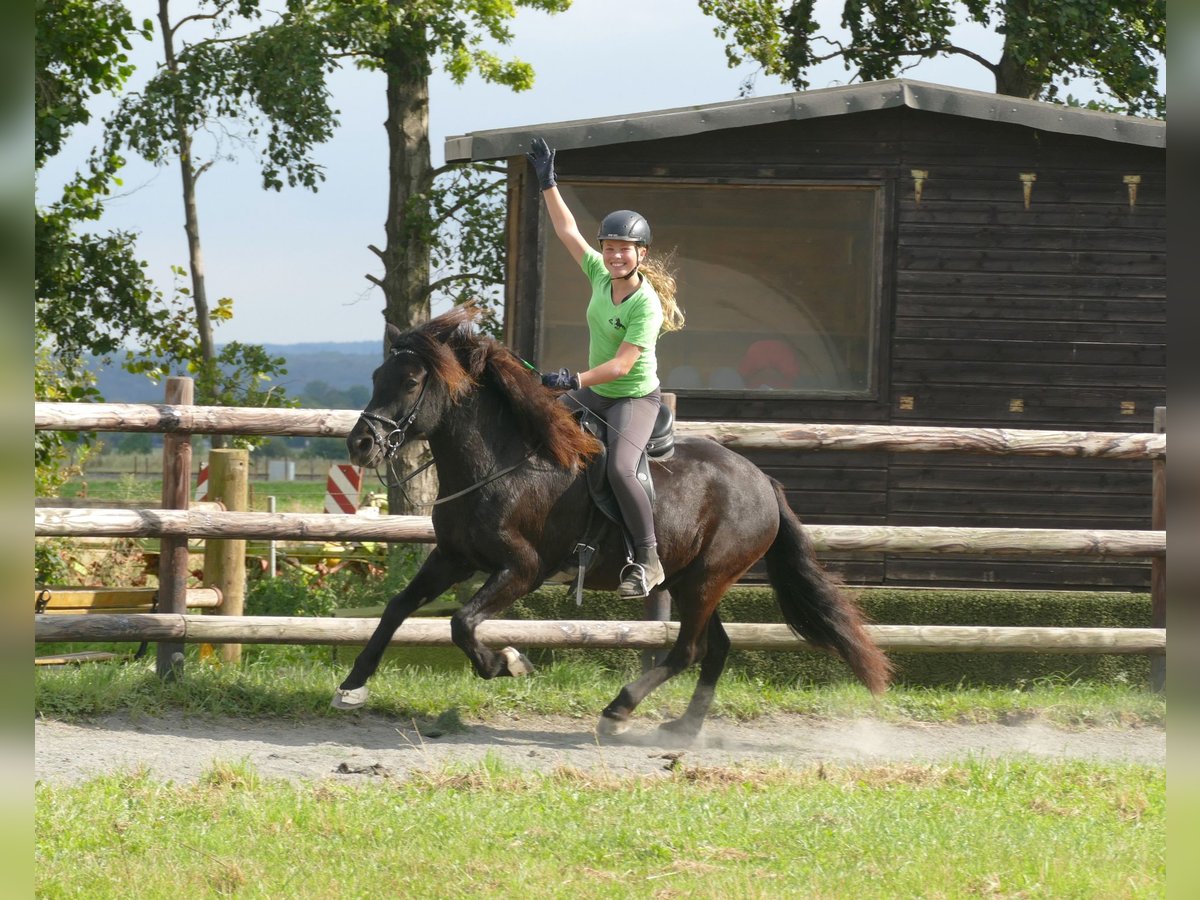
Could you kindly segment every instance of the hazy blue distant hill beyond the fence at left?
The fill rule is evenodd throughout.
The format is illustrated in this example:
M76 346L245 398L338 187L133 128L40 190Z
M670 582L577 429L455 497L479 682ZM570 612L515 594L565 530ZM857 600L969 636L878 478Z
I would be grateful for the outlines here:
M299 397L313 382L324 382L330 388L347 390L354 386L371 386L371 373L383 354L379 341L353 341L347 343L269 343L263 344L272 356L287 360L288 373L280 379L289 396ZM92 360L97 372L96 386L109 403L161 403L163 385L155 384L145 376L130 374L119 362L102 366Z

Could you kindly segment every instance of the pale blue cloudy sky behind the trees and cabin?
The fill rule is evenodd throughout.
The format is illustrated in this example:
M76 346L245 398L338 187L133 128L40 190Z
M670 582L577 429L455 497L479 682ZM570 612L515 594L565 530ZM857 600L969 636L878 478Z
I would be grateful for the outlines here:
M152 17L157 2L132 0L130 6L136 18ZM836 24L841 6L841 0L817 0L818 19ZM533 66L534 86L515 94L479 78L457 86L437 72L430 88L434 166L443 162L448 136L736 100L757 67L730 68L714 24L696 0L576 0L558 16L522 11L511 28L514 41L500 52ZM982 28L952 37L986 58L998 56L1000 36ZM158 62L158 40L156 34L134 47L132 61L142 78ZM606 79L610 72L619 77ZM810 72L812 88L846 84L850 77L840 62ZM923 61L905 77L973 90L995 86L991 73L966 58ZM341 126L316 152L326 175L317 193L264 191L251 149L233 161L218 160L198 182L209 302L234 301L234 318L216 329L217 343L373 341L382 334L383 294L365 275L378 274L367 245L384 244L384 77L347 68L332 77L331 91ZM755 77L754 96L788 91L778 78ZM113 103L97 98L92 125L78 130L40 175L40 202L53 199L55 185L86 160L98 139L98 120ZM137 233L148 272L169 293L178 281L170 268L187 264L179 169L128 157L124 185L100 224Z

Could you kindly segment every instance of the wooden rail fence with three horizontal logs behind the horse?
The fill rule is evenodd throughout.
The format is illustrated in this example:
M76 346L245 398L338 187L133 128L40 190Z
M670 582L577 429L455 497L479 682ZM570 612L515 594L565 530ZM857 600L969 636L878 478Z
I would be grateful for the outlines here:
M187 382L188 379L170 379ZM373 540L428 542L433 529L426 516L361 517L307 514L232 512L188 509L191 434L289 434L344 437L358 412L341 409L238 409L196 407L170 400L184 389L168 384L162 406L128 403L36 403L35 427L49 431L161 432L170 438L163 450L162 509L35 510L38 536L160 538L164 547L188 538L275 540ZM174 394L173 394L174 391ZM677 422L679 436L709 437L733 450L875 450L888 452L955 452L994 456L1057 456L1108 460L1151 460L1154 463L1153 524L1165 522L1165 409L1156 415L1154 433L1056 432L1009 428L948 428L878 425L776 425L760 422ZM1160 424L1159 424L1160 422ZM186 446L184 451L181 448ZM185 464L186 457L186 464ZM168 485L170 484L170 486ZM971 553L1021 556L1088 556L1152 562L1153 622L1150 629L997 629L976 626L875 628L890 649L967 652L1148 653L1157 658L1156 686L1162 685L1165 653L1165 530L1086 530L1045 528L938 528L894 526L805 526L817 550L888 553ZM170 570L170 566L175 566ZM179 560L163 553L160 562L158 616L71 617L50 622L37 617L40 641L162 641L160 672L178 665L175 648L188 641L206 643L365 643L373 623L353 619L208 619L185 616ZM186 574L186 569L182 570ZM163 578L166 572L167 578ZM166 596L173 592L178 596ZM106 622L107 619L107 622ZM444 623L406 623L396 643L449 643ZM107 631L106 631L107 629ZM432 629L430 634L427 630ZM487 623L503 641L526 646L661 647L673 640L670 623ZM648 630L647 630L648 629ZM751 630L748 630L751 629ZM730 625L734 647L803 646L785 626ZM419 635L418 631L421 631ZM743 634L745 631L745 634ZM104 632L106 638L96 637ZM736 634L734 634L736 632ZM113 635L122 635L114 638ZM204 636L202 636L204 635ZM601 635L604 635L601 637ZM496 640L502 640L497 637ZM550 643L541 643L547 641ZM578 643L571 643L576 641Z

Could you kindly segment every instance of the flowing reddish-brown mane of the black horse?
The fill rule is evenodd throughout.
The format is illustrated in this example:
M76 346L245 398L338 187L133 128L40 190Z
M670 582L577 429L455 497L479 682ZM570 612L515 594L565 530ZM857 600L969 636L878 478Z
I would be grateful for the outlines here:
M600 450L599 442L499 341L479 334L474 324L482 311L474 304L449 312L404 332L401 344L418 353L445 385L451 403L472 388L490 382L508 401L521 437L563 468L580 469Z

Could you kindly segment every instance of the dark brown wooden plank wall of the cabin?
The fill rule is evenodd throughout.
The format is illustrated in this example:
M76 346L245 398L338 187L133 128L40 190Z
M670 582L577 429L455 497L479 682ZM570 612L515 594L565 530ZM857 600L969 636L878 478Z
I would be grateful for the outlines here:
M562 178L845 179L886 188L877 396L683 395L682 419L1152 431L1153 408L1166 403L1162 150L902 108L560 151L558 168ZM913 169L928 173L919 204ZM1021 173L1036 175L1028 208ZM1140 176L1133 205L1127 175ZM528 235L538 206L522 208ZM516 276L529 287L515 292L510 314L527 335L538 280ZM1150 527L1148 463L754 458L814 523ZM826 562L853 583L1140 590L1150 581L1148 564L1127 562Z

